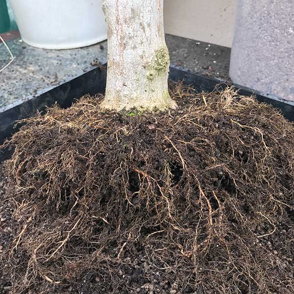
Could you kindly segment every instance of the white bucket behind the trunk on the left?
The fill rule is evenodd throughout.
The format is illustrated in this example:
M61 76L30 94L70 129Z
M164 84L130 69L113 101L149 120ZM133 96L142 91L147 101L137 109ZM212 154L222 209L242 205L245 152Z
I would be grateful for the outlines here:
M10 0L22 39L43 49L72 49L107 39L102 0Z

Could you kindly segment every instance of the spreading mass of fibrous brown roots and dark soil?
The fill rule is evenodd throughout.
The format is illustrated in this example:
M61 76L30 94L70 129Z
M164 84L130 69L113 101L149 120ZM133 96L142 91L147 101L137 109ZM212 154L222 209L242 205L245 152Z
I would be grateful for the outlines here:
M233 89L171 96L168 112L85 96L25 121L7 143L1 286L294 293L294 124Z

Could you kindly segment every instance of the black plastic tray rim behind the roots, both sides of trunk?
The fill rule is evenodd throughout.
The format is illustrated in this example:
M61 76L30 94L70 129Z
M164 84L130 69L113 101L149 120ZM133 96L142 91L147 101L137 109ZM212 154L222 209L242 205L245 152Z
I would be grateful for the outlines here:
M106 64L104 65L107 66ZM218 80L210 79L206 76L185 71L171 66L170 78L174 81L183 80L186 84L193 85L197 92L212 92L222 90L228 86ZM230 85L229 85L230 86ZM11 104L0 109L0 145L16 132L21 124L15 127L17 121L33 116L37 111L44 111L48 106L58 103L61 107L69 107L75 99L83 95L95 95L104 93L106 87L106 70L98 68L84 73L73 80L56 86L41 95L25 98L21 103ZM273 107L280 109L284 116L294 121L294 105L286 104L279 100L274 100L259 94L255 94L245 89L239 90L240 95L251 96L254 94L260 102L270 103ZM11 151L6 148L0 150L0 162L9 158Z

